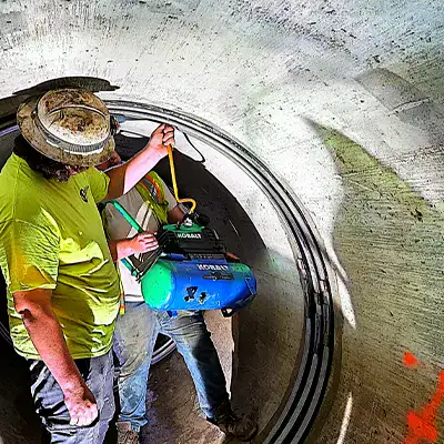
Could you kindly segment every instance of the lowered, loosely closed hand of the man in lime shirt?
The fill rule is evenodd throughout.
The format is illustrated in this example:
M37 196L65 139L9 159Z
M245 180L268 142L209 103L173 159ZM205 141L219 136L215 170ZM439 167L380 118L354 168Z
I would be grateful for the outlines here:
M72 391L65 390L63 395L71 416L71 425L90 425L98 417L99 411L95 398L87 384L82 384L82 386Z

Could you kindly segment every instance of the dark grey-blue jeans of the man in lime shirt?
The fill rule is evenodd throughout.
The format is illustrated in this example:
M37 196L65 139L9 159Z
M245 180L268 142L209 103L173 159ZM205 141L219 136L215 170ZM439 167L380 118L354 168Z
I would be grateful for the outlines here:
M89 426L70 425L63 393L43 361L29 360L31 393L44 427L43 443L101 444L114 415L112 351L103 356L74 360L80 374L93 393L99 418Z

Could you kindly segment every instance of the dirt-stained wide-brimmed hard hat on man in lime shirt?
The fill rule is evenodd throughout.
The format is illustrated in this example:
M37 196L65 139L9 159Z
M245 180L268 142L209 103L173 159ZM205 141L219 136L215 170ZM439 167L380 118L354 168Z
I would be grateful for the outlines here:
M37 151L68 165L97 165L114 151L110 112L90 91L62 89L30 98L19 107L17 122Z

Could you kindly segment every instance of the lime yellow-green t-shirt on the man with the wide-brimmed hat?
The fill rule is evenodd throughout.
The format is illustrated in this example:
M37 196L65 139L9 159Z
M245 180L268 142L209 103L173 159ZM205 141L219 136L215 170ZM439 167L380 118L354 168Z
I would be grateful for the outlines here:
M95 205L108 183L94 168L68 182L47 180L16 154L0 173L0 266L11 337L26 357L40 359L12 293L34 289L52 290L52 309L73 359L111 349L120 283Z

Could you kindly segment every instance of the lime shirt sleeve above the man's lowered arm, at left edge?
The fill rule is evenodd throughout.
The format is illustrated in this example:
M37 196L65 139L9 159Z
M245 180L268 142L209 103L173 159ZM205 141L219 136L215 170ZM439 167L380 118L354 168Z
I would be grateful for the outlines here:
M0 224L0 265L11 293L57 286L60 238L22 220Z

